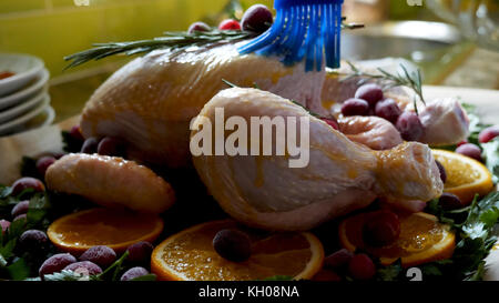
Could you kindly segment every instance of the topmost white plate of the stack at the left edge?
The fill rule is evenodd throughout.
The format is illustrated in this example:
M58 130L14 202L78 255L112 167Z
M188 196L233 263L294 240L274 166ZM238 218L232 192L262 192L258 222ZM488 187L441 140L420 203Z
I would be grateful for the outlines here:
M7 95L21 89L33 80L43 67L43 61L33 55L0 53L0 72L16 73L0 80L0 95Z

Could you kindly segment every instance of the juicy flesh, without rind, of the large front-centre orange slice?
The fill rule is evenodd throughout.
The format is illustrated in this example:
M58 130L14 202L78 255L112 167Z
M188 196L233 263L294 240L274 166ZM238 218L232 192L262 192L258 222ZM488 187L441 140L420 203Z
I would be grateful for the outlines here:
M234 222L206 225L181 234L167 243L160 257L186 280L244 281L262 280L276 274L295 276L312 259L308 241L301 233L265 236L246 231L252 239L252 256L245 262L230 262L213 249L213 238L222 229L236 228Z

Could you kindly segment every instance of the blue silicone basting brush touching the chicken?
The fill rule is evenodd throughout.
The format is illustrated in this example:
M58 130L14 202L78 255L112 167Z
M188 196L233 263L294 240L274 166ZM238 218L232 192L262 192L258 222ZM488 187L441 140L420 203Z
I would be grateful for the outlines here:
M281 55L286 65L305 60L306 71L339 67L343 0L275 0L276 19L240 53Z

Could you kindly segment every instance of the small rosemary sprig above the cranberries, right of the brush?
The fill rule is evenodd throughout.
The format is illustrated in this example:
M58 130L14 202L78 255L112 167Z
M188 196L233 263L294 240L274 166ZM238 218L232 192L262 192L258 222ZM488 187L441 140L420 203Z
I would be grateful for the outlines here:
M350 61L346 62L348 63L348 65L350 65L353 72L344 73L338 71L332 71L330 73L335 73L338 75L346 75L346 78L343 79L342 81L348 81L355 78L360 78L360 80L358 81L359 85L365 84L369 80L379 80L381 82L380 84L385 90L389 90L397 87L409 88L416 93L414 98L414 108L416 113L418 113L417 98L426 105L425 98L422 97L421 71L419 69L416 72L409 73L407 68L404 64L400 64L400 68L404 71L404 73L401 74L400 73L393 74L380 68L377 69L379 73L373 74L360 71Z

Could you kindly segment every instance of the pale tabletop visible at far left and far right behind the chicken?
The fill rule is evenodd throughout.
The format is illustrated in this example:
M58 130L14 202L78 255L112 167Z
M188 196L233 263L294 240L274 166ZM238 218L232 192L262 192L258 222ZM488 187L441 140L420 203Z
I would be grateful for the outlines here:
M478 105L483 120L499 124L499 91L425 87L425 98L459 97L464 102ZM22 155L35 156L45 152L62 151L61 130L77 124L79 117L60 124L33 130L13 137L0 138L0 184L10 184L19 178Z

